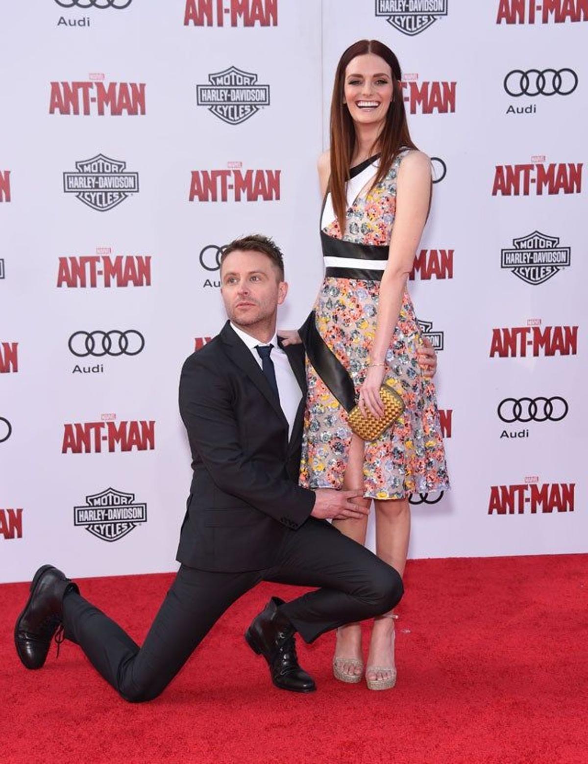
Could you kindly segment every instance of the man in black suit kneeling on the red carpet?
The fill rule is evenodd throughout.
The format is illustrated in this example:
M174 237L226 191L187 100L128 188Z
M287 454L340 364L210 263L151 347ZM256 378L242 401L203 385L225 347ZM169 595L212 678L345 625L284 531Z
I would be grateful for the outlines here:
M181 565L143 646L44 565L15 628L27 669L40 669L59 630L125 700L148 701L241 594L276 581L320 588L287 603L272 597L245 639L266 659L274 685L309 692L315 682L299 666L296 633L310 643L387 613L402 596L393 568L326 522L367 513L353 501L361 493L298 485L304 351L276 338L277 307L288 291L282 253L263 236L233 241L221 283L228 322L186 360L179 382L194 476Z

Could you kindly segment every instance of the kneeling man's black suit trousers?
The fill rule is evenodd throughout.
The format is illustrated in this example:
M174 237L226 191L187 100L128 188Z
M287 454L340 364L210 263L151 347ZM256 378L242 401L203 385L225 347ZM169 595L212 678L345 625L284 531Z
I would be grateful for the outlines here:
M169 684L222 613L260 581L320 587L279 608L305 642L386 613L402 597L394 568L328 523L309 518L288 534L276 565L267 570L219 573L182 565L141 649L75 592L63 600L65 635L125 700L148 701ZM228 661L232 654L231 648Z

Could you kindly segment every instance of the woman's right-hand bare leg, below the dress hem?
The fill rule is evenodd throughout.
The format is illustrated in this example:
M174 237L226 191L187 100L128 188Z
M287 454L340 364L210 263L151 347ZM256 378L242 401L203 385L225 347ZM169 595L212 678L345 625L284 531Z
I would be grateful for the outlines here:
M376 501L376 555L404 574L409 549L410 507L406 499ZM383 681L393 674L394 620L380 616L373 621L370 654L367 659L368 679ZM389 666L389 671L370 671L370 666Z

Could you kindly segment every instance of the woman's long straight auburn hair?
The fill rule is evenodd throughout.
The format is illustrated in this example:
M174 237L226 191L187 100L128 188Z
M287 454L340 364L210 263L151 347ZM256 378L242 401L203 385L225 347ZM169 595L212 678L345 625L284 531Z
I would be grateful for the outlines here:
M358 40L350 45L339 59L334 76L333 97L331 99L331 178L329 189L334 213L338 219L341 235L345 230L347 196L345 185L349 180L351 157L355 147L355 128L349 109L344 103L345 70L356 56L373 53L380 56L392 70L393 99L390 102L386 121L373 148L380 151L380 167L373 180L372 187L380 183L392 166L396 154L402 147L416 148L412 143L409 125L406 123L404 99L402 98L402 73L398 59L386 45L379 40Z

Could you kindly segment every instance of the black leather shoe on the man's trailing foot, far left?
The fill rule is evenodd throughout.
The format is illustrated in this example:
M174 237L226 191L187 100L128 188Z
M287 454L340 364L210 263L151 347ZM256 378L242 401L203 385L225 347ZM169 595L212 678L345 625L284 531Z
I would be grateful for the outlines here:
M27 669L40 669L44 664L63 618L63 595L67 591L79 589L53 565L43 565L35 573L31 596L15 626L16 652Z

